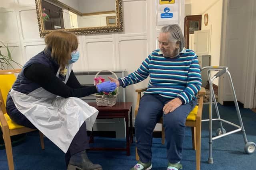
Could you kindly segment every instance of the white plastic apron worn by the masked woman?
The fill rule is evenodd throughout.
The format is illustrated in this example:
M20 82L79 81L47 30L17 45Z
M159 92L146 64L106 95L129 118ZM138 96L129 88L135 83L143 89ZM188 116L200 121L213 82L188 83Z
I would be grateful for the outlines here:
M64 83L68 81L72 64L67 69ZM57 77L59 72L60 69ZM89 106L80 98L62 98L43 88L28 95L12 89L10 95L20 113L65 153L84 121L86 128L91 131L98 115L95 107Z

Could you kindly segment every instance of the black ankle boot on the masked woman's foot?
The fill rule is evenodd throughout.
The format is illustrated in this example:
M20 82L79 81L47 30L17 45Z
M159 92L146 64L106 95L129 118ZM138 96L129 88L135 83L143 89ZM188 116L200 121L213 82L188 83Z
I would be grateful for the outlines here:
M71 156L67 170L102 170L99 164L93 164L86 154L86 150Z

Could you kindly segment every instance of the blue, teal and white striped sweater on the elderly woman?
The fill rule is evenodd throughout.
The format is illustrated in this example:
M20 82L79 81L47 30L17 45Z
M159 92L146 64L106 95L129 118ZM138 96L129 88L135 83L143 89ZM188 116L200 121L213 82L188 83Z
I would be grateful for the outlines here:
M158 49L153 51L138 70L119 78L126 87L150 77L147 94L159 94L166 98L180 98L183 104L190 102L201 88L200 67L196 53L183 49L176 57L163 57Z

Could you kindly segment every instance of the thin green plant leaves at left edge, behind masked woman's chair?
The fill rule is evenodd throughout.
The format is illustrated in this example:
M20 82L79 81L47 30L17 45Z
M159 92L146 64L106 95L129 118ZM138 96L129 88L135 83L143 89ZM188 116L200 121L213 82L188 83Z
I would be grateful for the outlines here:
M2 46L3 45L3 46ZM2 41L0 41L0 48L6 48L7 50L7 56L2 54L1 50L0 50L0 70L6 70L9 66L12 69L15 69L14 66L12 64L16 64L17 66L19 66L20 68L22 68L22 65L17 63L16 61L14 61L12 59L12 50L15 48L13 47L11 50L8 47L8 45L5 45Z

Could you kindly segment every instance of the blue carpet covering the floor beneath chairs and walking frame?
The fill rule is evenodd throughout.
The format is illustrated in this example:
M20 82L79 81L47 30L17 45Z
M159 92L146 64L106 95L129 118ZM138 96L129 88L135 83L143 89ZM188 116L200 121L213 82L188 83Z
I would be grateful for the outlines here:
M234 106L221 106L222 119L238 123ZM250 109L240 109L248 141L256 142L256 113ZM204 105L203 119L208 118L208 104ZM234 127L223 123L226 131ZM215 135L218 122L214 122ZM208 122L202 122L201 170L255 170L256 153L245 154L242 133L235 133L213 141L214 164L208 164ZM28 133L24 143L13 147L15 170L65 170L64 153L51 141L44 139L45 150L41 150L38 133ZM91 147L124 147L125 139L95 137ZM166 146L160 138L153 139L152 170L166 170ZM136 163L135 144L131 146L131 156L125 151L88 151L90 160L101 164L104 170L130 170ZM191 130L187 128L184 143L184 170L195 170L195 151L192 150ZM0 170L8 170L6 151L0 150Z

